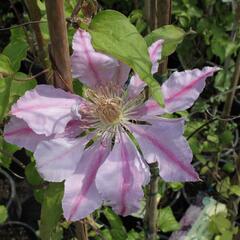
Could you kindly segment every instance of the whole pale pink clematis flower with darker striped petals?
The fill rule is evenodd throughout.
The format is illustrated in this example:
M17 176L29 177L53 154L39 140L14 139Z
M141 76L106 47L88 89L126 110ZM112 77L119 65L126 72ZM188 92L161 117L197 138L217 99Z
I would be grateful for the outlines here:
M149 48L153 74L162 45L158 40ZM218 68L173 73L161 87L161 108L144 99L138 75L126 83L130 68L96 52L86 31L76 32L73 50L72 73L88 87L85 98L38 85L13 105L4 130L6 141L34 152L45 180L65 181L65 218L84 218L103 201L123 216L137 211L149 182L147 163L157 161L166 181L199 180L184 120L161 115L191 107Z

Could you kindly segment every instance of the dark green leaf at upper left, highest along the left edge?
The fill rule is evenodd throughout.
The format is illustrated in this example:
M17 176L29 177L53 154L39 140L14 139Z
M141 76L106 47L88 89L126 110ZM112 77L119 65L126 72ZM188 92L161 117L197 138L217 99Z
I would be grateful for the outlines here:
M14 72L20 68L21 61L26 58L29 46L22 28L11 30L10 43L4 48L3 54L8 56Z

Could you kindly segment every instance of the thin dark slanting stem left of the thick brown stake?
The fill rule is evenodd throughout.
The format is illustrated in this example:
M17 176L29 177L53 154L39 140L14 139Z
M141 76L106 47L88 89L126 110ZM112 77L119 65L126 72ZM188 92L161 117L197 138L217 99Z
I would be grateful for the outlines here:
M36 0L25 0L26 7L28 9L29 18L31 21L40 21L41 20L41 12L37 5ZM38 46L38 56L39 60L43 66L43 68L47 68L47 53L46 47L44 46L44 40L42 36L42 32L40 29L39 23L32 25L33 31L36 36L37 46Z

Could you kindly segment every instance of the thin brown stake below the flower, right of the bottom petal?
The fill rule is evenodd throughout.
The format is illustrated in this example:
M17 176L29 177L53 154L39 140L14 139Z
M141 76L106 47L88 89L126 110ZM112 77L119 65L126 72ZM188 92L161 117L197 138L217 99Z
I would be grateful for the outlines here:
M150 164L151 180L148 185L148 196L146 204L146 213L144 217L145 240L155 240L157 237L157 217L158 217L158 164Z

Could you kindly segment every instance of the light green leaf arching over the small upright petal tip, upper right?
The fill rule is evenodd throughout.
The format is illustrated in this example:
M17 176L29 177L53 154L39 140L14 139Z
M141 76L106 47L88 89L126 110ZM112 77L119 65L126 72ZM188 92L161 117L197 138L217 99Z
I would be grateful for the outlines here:
M163 39L163 57L167 57L175 52L177 45L183 41L185 32L174 25L166 25L160 27L145 37L147 45L150 46L153 42L158 39Z

